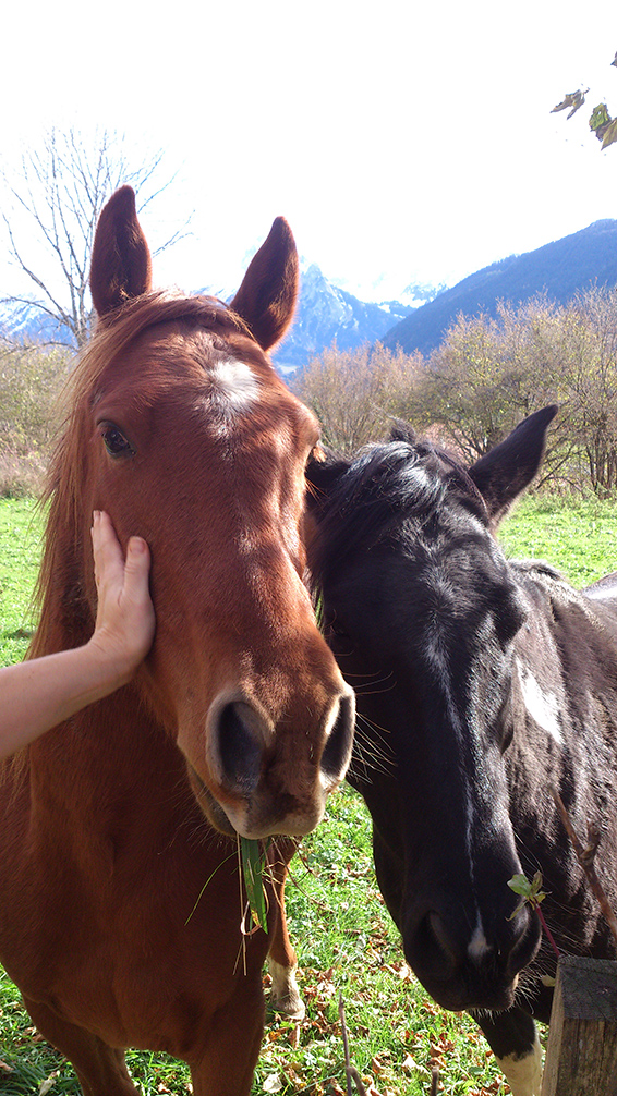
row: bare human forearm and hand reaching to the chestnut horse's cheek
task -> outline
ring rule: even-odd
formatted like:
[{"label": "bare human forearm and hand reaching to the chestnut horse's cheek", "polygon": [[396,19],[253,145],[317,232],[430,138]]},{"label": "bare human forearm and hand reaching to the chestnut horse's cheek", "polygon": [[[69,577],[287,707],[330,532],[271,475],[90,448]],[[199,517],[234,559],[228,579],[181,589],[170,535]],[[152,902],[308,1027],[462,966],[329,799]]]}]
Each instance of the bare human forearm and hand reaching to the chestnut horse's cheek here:
[{"label": "bare human forearm and hand reaching to the chestnut horse's cheek", "polygon": [[146,541],[132,537],[125,562],[110,517],[96,511],[92,547],[99,596],[94,632],[83,647],[0,670],[0,757],[125,685],[151,647],[155,609]]}]

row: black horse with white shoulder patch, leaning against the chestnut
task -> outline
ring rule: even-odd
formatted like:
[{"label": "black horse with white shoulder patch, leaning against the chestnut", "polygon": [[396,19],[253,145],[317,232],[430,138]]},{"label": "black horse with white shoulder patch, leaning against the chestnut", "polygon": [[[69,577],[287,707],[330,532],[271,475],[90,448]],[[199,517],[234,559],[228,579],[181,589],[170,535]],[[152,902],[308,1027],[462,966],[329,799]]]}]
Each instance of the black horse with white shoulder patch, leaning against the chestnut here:
[{"label": "black horse with white shoulder patch, leaning against the chestnut", "polygon": [[617,905],[617,601],[512,562],[499,521],[536,475],[556,408],[470,468],[408,429],[309,468],[310,564],[327,636],[357,694],[352,784],[373,817],[379,887],[405,958],[468,1009],[515,1096],[540,1092],[533,1017],[556,959],[507,882],[540,870],[569,954],[612,958],[551,796],[602,832]]}]

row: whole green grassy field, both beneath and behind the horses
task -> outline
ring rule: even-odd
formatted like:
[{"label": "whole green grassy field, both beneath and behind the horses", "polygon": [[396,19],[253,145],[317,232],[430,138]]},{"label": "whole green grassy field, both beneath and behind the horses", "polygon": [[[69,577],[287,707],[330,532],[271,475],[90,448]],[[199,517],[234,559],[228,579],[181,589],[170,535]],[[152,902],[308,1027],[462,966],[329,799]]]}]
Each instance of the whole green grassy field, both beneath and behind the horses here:
[{"label": "whole green grassy field, both beneath and behind the horses", "polygon": [[[505,524],[502,543],[511,556],[556,564],[580,587],[617,569],[616,534],[610,503],[528,498]],[[38,536],[31,502],[0,500],[0,663],[23,655],[33,626],[27,605]],[[366,811],[351,789],[332,797],[325,822],[302,842],[292,872],[289,925],[307,1019],[297,1025],[268,1016],[254,1096],[345,1092],[340,993],[352,1057],[370,1096],[427,1094],[433,1063],[443,1093],[504,1096],[509,1088],[476,1026],[434,1005],[409,975],[375,882]],[[78,1096],[71,1070],[37,1039],[1,970],[0,1026],[2,1096],[36,1096],[48,1086],[53,1096]],[[172,1059],[132,1052],[128,1061],[146,1096],[187,1089],[187,1072]]]}]

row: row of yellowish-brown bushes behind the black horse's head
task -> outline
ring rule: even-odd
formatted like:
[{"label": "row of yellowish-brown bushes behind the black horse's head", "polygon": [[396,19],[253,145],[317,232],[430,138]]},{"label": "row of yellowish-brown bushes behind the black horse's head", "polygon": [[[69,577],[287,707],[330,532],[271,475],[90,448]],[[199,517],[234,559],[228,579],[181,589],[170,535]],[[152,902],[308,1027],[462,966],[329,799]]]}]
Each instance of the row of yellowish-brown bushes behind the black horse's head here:
[{"label": "row of yellowish-brown bushes behind the black horse's head", "polygon": [[473,463],[526,415],[549,403],[540,483],[567,493],[617,490],[617,287],[593,287],[560,306],[546,296],[460,315],[424,358],[379,343],[310,362],[296,391],[324,442],[344,454],[377,441],[392,418]]}]

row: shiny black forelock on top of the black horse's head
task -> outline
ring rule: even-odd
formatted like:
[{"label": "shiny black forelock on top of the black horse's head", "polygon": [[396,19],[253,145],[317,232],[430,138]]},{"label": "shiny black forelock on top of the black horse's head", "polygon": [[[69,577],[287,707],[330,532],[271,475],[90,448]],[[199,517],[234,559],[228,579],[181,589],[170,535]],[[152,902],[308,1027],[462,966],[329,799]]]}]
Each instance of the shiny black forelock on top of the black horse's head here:
[{"label": "shiny black forelock on top of the black horse's head", "polygon": [[465,468],[411,427],[398,424],[391,439],[367,445],[351,461],[327,453],[325,466],[341,472],[328,494],[316,495],[318,532],[311,573],[318,583],[359,547],[369,551],[395,537],[403,520],[423,523],[456,495],[483,522],[484,502]]}]

